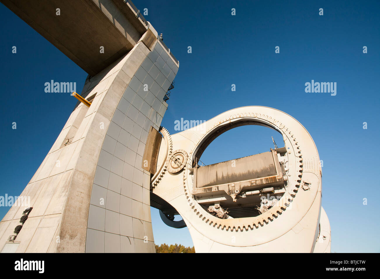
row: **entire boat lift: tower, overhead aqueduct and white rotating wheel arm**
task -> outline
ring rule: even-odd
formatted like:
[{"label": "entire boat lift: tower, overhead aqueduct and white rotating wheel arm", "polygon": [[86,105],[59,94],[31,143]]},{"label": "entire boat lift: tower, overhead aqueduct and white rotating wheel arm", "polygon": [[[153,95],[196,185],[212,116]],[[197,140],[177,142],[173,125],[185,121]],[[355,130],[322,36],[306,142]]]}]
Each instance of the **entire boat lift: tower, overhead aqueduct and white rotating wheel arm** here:
[{"label": "entire boat lift: tower, overhead aqueduct and white rotating wheel arm", "polygon": [[[17,205],[0,222],[0,251],[154,252],[149,205],[187,226],[196,252],[330,251],[318,151],[298,121],[250,106],[170,135],[160,124],[179,62],[130,0],[0,1],[89,74],[21,194],[31,197],[27,221]],[[242,125],[275,129],[285,147],[199,166],[212,140]]]}]

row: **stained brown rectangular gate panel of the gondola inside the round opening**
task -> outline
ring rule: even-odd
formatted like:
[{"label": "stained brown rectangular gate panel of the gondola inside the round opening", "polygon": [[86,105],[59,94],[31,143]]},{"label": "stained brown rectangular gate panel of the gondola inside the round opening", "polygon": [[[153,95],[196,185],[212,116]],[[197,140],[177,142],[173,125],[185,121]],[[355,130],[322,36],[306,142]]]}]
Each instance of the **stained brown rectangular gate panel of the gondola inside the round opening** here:
[{"label": "stained brown rectangular gate panel of the gondola inside the round opening", "polygon": [[276,174],[272,152],[268,151],[199,167],[196,173],[196,188],[275,176]]}]

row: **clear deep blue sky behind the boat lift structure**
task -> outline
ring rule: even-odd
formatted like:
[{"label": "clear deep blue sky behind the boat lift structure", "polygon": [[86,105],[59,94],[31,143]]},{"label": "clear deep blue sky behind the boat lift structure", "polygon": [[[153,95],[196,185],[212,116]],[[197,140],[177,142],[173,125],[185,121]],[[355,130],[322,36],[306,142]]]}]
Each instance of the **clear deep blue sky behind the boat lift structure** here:
[{"label": "clear deep blue sky behind the boat lift structure", "polygon": [[[323,160],[322,205],[331,224],[331,251],[380,252],[379,2],[133,2],[148,9],[146,19],[180,62],[161,125],[174,134],[174,121],[181,117],[208,120],[241,106],[287,112],[309,131]],[[45,93],[44,83],[76,82],[81,91],[87,74],[2,4],[0,15],[0,195],[19,195],[76,104],[70,95]],[[336,96],[306,93],[311,80],[336,82]],[[230,130],[201,160],[212,164],[267,151],[271,136],[280,145],[281,137],[270,129]],[[0,207],[0,218],[8,209]],[[157,210],[152,224],[156,244],[192,246],[187,228],[167,227]]]}]

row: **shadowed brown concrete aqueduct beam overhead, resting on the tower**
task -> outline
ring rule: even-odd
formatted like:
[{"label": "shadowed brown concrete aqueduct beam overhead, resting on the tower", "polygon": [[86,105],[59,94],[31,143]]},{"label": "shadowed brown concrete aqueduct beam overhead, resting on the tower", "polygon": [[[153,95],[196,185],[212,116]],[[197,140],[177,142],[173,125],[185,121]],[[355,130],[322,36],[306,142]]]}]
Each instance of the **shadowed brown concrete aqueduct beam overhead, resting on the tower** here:
[{"label": "shadowed brown concrete aqueduct beam overhead, resting on the tower", "polygon": [[1,2],[90,76],[127,54],[148,28],[123,0]]}]

